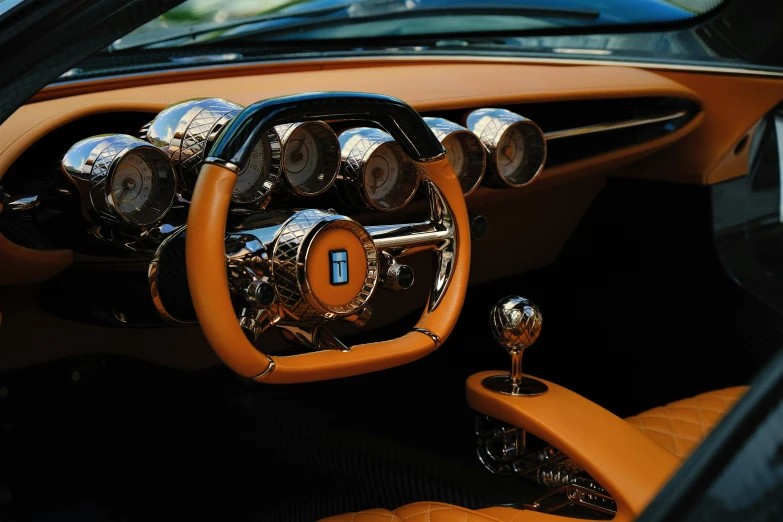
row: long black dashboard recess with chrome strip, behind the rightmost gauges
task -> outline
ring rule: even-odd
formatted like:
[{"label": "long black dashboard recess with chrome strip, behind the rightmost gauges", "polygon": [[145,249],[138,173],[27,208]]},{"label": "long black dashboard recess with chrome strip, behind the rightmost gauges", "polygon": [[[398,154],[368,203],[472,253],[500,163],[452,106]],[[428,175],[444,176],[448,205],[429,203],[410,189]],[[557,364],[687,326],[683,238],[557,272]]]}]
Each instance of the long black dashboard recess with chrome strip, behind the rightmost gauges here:
[{"label": "long black dashboard recess with chrome strip, behind the rightmost gauges", "polygon": [[[541,127],[547,138],[546,163],[550,167],[663,137],[684,127],[701,111],[691,100],[671,97],[578,100],[500,105],[499,108],[530,118]],[[468,112],[441,111],[437,116],[462,122]]]}]

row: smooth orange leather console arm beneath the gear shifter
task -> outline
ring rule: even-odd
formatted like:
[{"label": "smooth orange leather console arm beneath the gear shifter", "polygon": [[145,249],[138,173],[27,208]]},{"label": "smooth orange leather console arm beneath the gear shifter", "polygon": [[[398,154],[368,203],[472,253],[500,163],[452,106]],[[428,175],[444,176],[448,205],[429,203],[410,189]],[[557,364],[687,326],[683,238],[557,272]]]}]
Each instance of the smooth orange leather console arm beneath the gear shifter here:
[{"label": "smooth orange leather console arm beneath the gear shifter", "polygon": [[[539,397],[511,397],[487,390],[481,372],[467,380],[470,407],[520,426],[571,457],[617,502],[615,520],[633,520],[652,500],[680,459],[634,426],[557,384]],[[543,380],[543,379],[539,379]]]}]

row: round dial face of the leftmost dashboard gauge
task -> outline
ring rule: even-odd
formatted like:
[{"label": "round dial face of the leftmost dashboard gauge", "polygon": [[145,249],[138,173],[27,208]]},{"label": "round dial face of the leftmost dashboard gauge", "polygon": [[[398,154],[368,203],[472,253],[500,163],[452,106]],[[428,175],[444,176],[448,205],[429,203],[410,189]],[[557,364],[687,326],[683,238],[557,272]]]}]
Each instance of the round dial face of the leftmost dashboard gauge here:
[{"label": "round dial face of the leftmost dashboard gauge", "polygon": [[115,208],[126,218],[147,208],[156,192],[149,161],[137,152],[126,154],[114,171],[111,191]]}]

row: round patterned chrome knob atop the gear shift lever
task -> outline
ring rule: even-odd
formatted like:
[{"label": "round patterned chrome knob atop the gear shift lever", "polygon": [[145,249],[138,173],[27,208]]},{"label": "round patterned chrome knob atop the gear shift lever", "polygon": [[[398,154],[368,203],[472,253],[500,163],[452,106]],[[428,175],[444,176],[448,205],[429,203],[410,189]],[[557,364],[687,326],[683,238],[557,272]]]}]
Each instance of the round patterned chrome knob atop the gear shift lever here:
[{"label": "round patterned chrome knob atop the gear shift lever", "polygon": [[538,339],[542,316],[530,300],[510,295],[498,301],[489,316],[495,341],[509,354],[523,351]]}]

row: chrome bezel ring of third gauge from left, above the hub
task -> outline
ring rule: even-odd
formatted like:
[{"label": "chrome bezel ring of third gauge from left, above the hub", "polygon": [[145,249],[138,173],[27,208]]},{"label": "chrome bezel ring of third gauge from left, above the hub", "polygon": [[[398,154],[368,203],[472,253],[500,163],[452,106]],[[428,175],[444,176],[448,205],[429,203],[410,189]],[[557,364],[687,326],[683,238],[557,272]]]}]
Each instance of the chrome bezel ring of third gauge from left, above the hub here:
[{"label": "chrome bezel ring of third gauge from left, above the hub", "polygon": [[[318,172],[315,174],[317,183],[315,181],[294,183],[286,167],[287,147],[293,143],[291,140],[293,135],[300,130],[307,130],[313,134],[321,147],[322,154],[318,160]],[[280,138],[280,171],[282,172],[280,177],[284,180],[285,187],[297,196],[318,196],[329,190],[340,172],[340,142],[332,128],[322,121],[308,121],[278,125],[275,127],[275,132]]]}]

